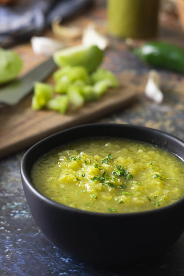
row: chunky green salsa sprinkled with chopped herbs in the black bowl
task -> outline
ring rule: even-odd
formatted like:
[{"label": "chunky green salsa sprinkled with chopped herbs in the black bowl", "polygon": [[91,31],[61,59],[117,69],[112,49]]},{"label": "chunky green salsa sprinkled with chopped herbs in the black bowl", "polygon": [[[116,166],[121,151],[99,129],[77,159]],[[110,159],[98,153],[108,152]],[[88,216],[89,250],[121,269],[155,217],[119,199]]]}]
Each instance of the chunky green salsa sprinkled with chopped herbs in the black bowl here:
[{"label": "chunky green salsa sprinkled with chopped herbs in the black bowl", "polygon": [[130,213],[172,204],[184,195],[184,163],[155,145],[91,138],[64,145],[33,165],[33,185],[77,209]]}]

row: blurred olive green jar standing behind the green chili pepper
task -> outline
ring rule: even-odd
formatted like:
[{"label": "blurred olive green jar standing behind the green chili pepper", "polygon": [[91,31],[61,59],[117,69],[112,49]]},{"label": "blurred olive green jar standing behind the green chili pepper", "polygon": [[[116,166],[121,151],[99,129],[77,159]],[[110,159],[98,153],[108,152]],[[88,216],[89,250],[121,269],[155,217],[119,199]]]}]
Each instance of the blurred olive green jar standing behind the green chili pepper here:
[{"label": "blurred olive green jar standing behind the green chili pepper", "polygon": [[117,37],[156,36],[159,0],[108,0],[109,33]]}]

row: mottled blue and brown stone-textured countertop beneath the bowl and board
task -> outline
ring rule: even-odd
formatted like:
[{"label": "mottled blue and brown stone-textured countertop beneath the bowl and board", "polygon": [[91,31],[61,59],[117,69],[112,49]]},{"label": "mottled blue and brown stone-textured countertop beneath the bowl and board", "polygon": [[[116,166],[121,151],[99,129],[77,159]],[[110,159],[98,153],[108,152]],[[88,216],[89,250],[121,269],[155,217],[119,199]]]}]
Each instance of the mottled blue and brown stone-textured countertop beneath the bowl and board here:
[{"label": "mottled blue and brown stone-textured countertop beneath the bowl and board", "polygon": [[[103,5],[85,16],[95,21],[104,20]],[[162,39],[184,44],[175,18],[168,20],[161,15],[160,22]],[[122,78],[129,78],[135,83],[139,97],[131,106],[98,122],[144,125],[184,139],[183,76],[159,70],[164,101],[161,105],[152,103],[144,96],[149,67],[126,49],[124,41],[111,38],[111,43],[112,47],[105,54],[104,66],[116,73],[121,72]],[[19,172],[23,154],[18,152],[0,161],[0,275],[184,275],[184,234],[159,259],[129,266],[82,263],[56,248],[40,231],[29,211]]]}]

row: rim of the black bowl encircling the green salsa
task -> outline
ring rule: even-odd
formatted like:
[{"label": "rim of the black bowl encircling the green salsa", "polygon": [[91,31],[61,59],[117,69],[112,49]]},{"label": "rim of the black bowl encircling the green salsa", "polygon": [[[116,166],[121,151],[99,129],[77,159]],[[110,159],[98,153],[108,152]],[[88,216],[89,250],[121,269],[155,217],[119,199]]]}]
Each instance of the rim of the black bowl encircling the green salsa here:
[{"label": "rim of the black bowl encircling the green salsa", "polygon": [[[63,209],[65,211],[68,212],[74,212],[77,214],[83,214],[83,215],[88,215],[88,216],[97,216],[97,217],[139,217],[139,216],[148,216],[148,215],[156,215],[160,212],[165,212],[165,211],[169,211],[171,209],[173,209],[174,207],[178,207],[179,205],[184,203],[184,197],[182,197],[181,199],[179,199],[178,201],[171,203],[167,206],[164,207],[159,207],[158,209],[152,209],[152,210],[146,210],[146,211],[140,211],[140,212],[131,212],[131,213],[101,213],[101,212],[94,212],[94,211],[87,211],[87,210],[82,210],[82,209],[77,209],[74,207],[70,207],[67,205],[64,205],[62,203],[56,202],[52,199],[50,199],[49,197],[46,197],[44,194],[42,194],[39,190],[36,189],[35,186],[33,186],[33,184],[31,183],[31,181],[29,180],[30,175],[28,175],[26,173],[26,163],[29,160],[29,155],[32,152],[32,150],[38,146],[40,146],[44,141],[52,139],[54,136],[58,136],[61,135],[62,133],[68,132],[69,130],[77,130],[78,128],[85,128],[85,127],[95,127],[95,126],[103,126],[103,127],[107,127],[110,125],[117,125],[117,127],[129,127],[129,128],[136,128],[136,129],[142,129],[142,130],[148,130],[152,133],[157,133],[157,134],[161,134],[163,136],[168,136],[170,138],[173,138],[174,140],[176,140],[179,144],[181,144],[181,146],[184,147],[184,141],[182,141],[181,139],[179,139],[178,137],[169,134],[167,132],[155,129],[155,128],[148,128],[148,127],[144,127],[144,126],[139,126],[139,125],[131,125],[131,124],[116,124],[116,123],[92,123],[92,124],[84,124],[84,125],[78,125],[75,127],[71,127],[71,128],[67,128],[65,130],[56,132],[42,140],[40,140],[39,142],[37,142],[36,144],[34,144],[31,148],[29,148],[25,154],[22,157],[21,160],[21,166],[20,166],[20,171],[21,171],[21,178],[22,178],[22,182],[24,181],[25,185],[28,186],[28,188],[35,194],[36,197],[38,197],[40,200],[43,200],[44,202],[46,202],[47,204],[59,208],[59,209]],[[99,136],[100,137],[100,136]],[[109,136],[110,137],[110,136]],[[79,140],[79,139],[76,139]],[[136,140],[136,139],[135,139]],[[147,142],[147,141],[144,141]],[[149,142],[147,142],[149,143]],[[62,143],[61,143],[62,146]],[[58,147],[57,147],[58,148]],[[54,150],[54,149],[53,149]],[[167,149],[165,149],[167,150]],[[177,154],[175,154],[174,152],[170,151],[172,154],[178,156]],[[38,156],[39,158],[40,156]],[[179,157],[179,156],[178,156]],[[30,174],[30,171],[29,171]]]}]

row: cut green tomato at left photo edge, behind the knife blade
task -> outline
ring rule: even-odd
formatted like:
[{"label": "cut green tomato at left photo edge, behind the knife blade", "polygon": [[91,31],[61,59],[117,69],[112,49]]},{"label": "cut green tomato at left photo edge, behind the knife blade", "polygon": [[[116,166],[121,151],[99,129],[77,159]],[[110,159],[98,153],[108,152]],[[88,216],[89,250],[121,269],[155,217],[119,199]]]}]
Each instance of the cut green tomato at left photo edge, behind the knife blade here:
[{"label": "cut green tomato at left photo edge, behind the knife blade", "polygon": [[0,48],[0,84],[15,79],[22,66],[22,59],[16,52]]}]

